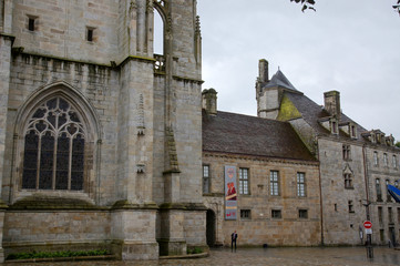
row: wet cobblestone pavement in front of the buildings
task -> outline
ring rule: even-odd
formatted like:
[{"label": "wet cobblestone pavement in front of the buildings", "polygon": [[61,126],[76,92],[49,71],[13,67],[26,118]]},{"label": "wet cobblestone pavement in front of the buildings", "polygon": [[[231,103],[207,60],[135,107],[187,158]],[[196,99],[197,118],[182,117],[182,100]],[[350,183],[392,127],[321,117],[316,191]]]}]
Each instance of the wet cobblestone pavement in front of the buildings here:
[{"label": "wet cobblestone pavement in front of the buildings", "polygon": [[[212,249],[211,256],[198,259],[162,259],[147,262],[79,262],[79,263],[45,263],[23,264],[23,266],[156,266],[156,265],[274,265],[274,266],[380,266],[400,265],[400,250],[390,248],[373,248],[373,260],[367,259],[363,247],[337,248],[238,248]],[[16,264],[6,263],[7,266]]]}]

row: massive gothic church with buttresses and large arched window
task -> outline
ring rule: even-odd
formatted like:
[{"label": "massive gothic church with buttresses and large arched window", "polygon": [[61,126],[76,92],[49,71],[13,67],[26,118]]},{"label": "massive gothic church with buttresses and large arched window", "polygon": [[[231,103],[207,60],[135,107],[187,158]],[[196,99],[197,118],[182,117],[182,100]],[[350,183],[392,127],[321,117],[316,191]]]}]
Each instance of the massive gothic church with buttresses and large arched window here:
[{"label": "massive gothic church with buttresses and large arched window", "polygon": [[201,60],[196,0],[0,0],[1,255],[205,248]]}]

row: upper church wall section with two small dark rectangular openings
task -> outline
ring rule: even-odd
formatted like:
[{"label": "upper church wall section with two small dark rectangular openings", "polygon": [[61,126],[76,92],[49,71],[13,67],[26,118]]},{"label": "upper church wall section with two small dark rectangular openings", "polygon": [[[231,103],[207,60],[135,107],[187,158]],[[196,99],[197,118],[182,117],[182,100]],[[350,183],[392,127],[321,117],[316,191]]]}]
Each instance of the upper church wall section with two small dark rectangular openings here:
[{"label": "upper church wall section with two small dark rectangular openings", "polygon": [[[14,47],[25,52],[110,64],[119,54],[119,1],[14,0]],[[28,20],[35,20],[35,30]],[[88,28],[93,41],[86,40]]]}]

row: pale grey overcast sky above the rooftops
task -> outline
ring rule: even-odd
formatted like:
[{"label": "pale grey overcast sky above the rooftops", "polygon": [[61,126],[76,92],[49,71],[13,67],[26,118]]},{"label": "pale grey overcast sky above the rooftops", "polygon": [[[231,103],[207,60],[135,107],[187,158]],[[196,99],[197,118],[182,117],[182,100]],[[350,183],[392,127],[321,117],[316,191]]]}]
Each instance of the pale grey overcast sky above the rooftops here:
[{"label": "pale grey overcast sky above the rooftops", "polygon": [[218,110],[256,115],[258,60],[280,66],[318,104],[337,90],[342,112],[400,141],[400,17],[396,0],[317,0],[301,12],[289,0],[198,0],[203,89]]}]

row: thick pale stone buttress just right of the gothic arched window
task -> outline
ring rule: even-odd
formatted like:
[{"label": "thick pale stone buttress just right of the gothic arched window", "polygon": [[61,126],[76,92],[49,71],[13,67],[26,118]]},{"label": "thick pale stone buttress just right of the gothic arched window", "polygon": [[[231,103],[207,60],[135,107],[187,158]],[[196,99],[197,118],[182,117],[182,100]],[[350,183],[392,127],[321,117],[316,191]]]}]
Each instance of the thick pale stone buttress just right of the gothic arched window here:
[{"label": "thick pale stone buttress just right of the gothic arched window", "polygon": [[121,69],[119,104],[120,201],[113,206],[112,237],[121,259],[156,259],[157,205],[153,181],[153,61],[132,57]]}]

